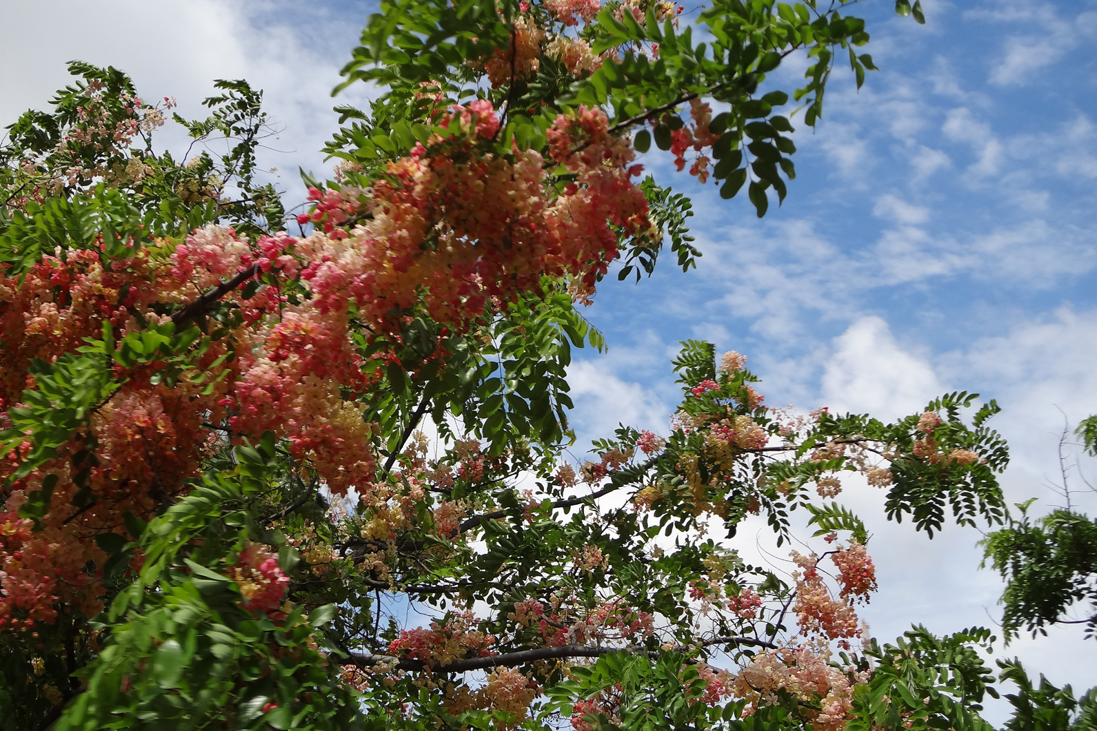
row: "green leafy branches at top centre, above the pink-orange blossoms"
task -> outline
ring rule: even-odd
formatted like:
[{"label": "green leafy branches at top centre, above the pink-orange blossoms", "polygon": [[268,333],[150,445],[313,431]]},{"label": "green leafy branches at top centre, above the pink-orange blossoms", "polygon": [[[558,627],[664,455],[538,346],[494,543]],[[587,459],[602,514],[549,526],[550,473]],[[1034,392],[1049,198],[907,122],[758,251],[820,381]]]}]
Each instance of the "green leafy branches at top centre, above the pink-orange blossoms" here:
[{"label": "green leafy branches at top centre, above the pink-orange blossoms", "polygon": [[[544,151],[545,130],[556,111],[580,104],[608,110],[614,133],[649,123],[653,132],[641,128],[636,134],[637,149],[648,149],[654,135],[656,146],[666,150],[670,132],[682,125],[679,107],[693,99],[712,99],[731,106],[712,121],[712,130],[723,133],[712,152],[716,160],[713,176],[717,184],[723,181],[725,198],[735,196],[749,181],[749,197],[760,217],[769,206],[768,191],[772,189],[778,202],[783,202],[785,181],[795,178],[790,157],[795,145],[785,136],[793,127],[788,115],[777,113],[778,107],[790,99],[800,102],[804,123],[814,126],[823,113],[826,82],[839,49],[848,52],[858,87],[866,69],[875,69],[871,56],[855,52],[868,43],[869,35],[862,20],[840,14],[846,4],[841,0],[819,12],[815,3],[719,0],[698,18],[699,35],[703,31],[705,36],[699,43],[692,38],[692,26],[676,30],[669,18],[660,23],[654,3],[647,3],[643,25],[629,13],[618,20],[615,5],[606,5],[581,37],[596,54],[620,50],[617,58],[604,58],[600,68],[574,81],[545,59],[531,78],[514,78],[487,92],[497,108],[506,107],[506,125],[496,140],[499,151],[506,153],[512,141],[521,149]],[[920,13],[917,7],[915,18],[920,19]],[[358,121],[337,135],[326,151],[380,171],[380,161],[405,155],[417,139],[426,142],[434,130],[426,116],[430,103],[416,96],[419,84],[437,83],[456,102],[478,95],[473,85],[477,72],[467,61],[490,57],[496,49],[507,53],[518,15],[518,3],[512,0],[383,2],[362,32],[353,60],[342,70],[346,81],[336,92],[359,81],[387,90],[369,114],[338,107],[343,119]],[[658,44],[657,60],[637,52],[645,44]],[[810,59],[807,82],[791,93],[765,90],[767,75],[796,52]],[[649,186],[645,192],[658,207],[663,189]],[[671,238],[679,265],[686,266],[695,252],[681,245],[672,229]],[[647,249],[633,252],[641,267],[644,261],[654,260],[652,247]]]}]

